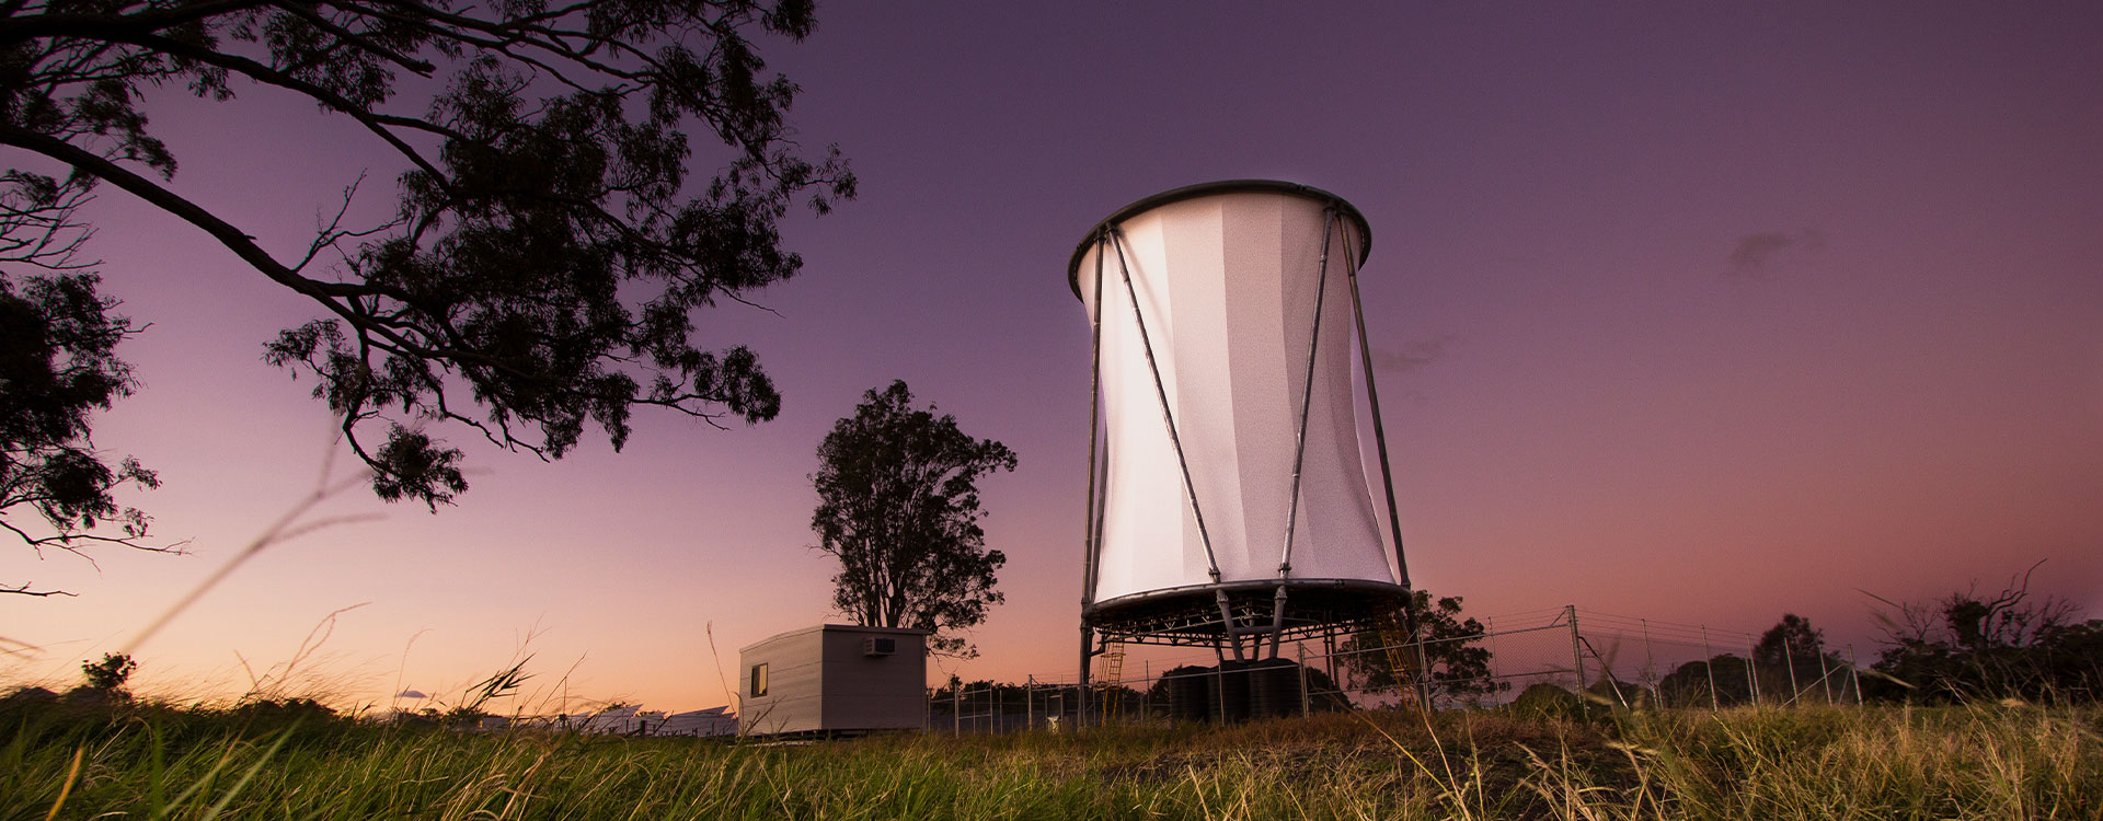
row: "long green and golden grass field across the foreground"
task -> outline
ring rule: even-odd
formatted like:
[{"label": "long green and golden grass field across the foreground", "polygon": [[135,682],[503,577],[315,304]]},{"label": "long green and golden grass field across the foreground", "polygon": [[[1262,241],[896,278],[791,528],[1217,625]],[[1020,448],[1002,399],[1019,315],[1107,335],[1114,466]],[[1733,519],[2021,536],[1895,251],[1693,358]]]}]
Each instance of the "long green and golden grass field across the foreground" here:
[{"label": "long green and golden grass field across the foreground", "polygon": [[0,708],[4,819],[2103,819],[2099,708],[1327,714],[805,745]]}]

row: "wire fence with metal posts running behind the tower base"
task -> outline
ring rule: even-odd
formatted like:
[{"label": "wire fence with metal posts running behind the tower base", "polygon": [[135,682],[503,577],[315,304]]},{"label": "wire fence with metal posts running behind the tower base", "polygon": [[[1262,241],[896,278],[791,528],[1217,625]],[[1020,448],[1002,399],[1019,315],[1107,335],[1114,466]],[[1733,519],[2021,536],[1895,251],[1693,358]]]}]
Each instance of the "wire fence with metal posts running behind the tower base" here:
[{"label": "wire fence with metal posts running behind the tower base", "polygon": [[[1209,651],[1100,655],[1091,682],[1028,676],[930,691],[927,729],[1012,733],[1220,722],[1340,710],[1495,708],[1586,693],[1621,708],[1861,703],[1853,647],[1758,647],[1758,636],[1563,607],[1499,615],[1478,636],[1384,643],[1377,632],[1285,645],[1277,659]],[[1121,653],[1112,647],[1110,653]],[[1396,674],[1401,672],[1401,674]]]}]

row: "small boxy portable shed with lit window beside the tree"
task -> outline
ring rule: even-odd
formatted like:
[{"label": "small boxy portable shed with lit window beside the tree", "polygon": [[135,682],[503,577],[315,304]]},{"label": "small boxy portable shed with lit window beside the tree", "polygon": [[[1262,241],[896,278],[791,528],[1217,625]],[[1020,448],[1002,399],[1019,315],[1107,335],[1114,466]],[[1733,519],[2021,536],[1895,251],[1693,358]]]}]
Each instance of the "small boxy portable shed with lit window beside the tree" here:
[{"label": "small boxy portable shed with lit window beside the tree", "polygon": [[820,624],[747,645],[738,733],[866,733],[927,722],[927,632]]}]

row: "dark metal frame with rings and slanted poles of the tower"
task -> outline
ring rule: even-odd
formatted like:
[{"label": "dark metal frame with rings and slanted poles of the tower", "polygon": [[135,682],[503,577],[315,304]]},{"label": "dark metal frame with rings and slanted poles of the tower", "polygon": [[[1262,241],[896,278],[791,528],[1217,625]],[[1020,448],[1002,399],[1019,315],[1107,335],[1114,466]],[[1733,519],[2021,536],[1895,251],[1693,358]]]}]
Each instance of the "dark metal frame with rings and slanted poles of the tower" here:
[{"label": "dark metal frame with rings and slanted poles of the tower", "polygon": [[[1277,577],[1247,577],[1247,580],[1222,580],[1220,556],[1213,552],[1213,535],[1205,525],[1205,508],[1199,498],[1197,481],[1192,479],[1192,466],[1184,451],[1182,433],[1178,430],[1176,405],[1169,399],[1169,388],[1163,384],[1161,363],[1155,359],[1155,340],[1146,328],[1146,315],[1140,309],[1140,294],[1134,286],[1134,260],[1131,248],[1127,248],[1125,223],[1142,214],[1155,212],[1165,206],[1176,206],[1186,199],[1216,197],[1216,195],[1239,195],[1239,193],[1264,193],[1264,195],[1289,195],[1300,199],[1310,199],[1321,206],[1321,260],[1314,273],[1314,319],[1308,330],[1308,351],[1304,353],[1304,384],[1300,395],[1293,397],[1293,412],[1298,414],[1298,430],[1293,430],[1293,472],[1289,491],[1289,512],[1285,517],[1285,538],[1281,550],[1281,563],[1277,567]],[[1342,265],[1344,281],[1348,283],[1350,298],[1350,319],[1354,323],[1354,336],[1359,338],[1359,374],[1365,380],[1365,399],[1373,416],[1373,445],[1380,458],[1380,479],[1382,491],[1386,493],[1388,527],[1386,533],[1394,546],[1392,571],[1394,584],[1384,580],[1365,577],[1295,577],[1291,575],[1293,563],[1293,542],[1295,529],[1302,525],[1302,466],[1308,451],[1308,424],[1314,405],[1314,384],[1316,384],[1316,349],[1321,346],[1321,321],[1323,304],[1329,298],[1329,265],[1331,265],[1331,237],[1340,235],[1344,241]],[[1352,241],[1356,239],[1356,241]],[[1356,248],[1348,248],[1356,246]],[[1083,265],[1094,252],[1094,298],[1081,292]],[[1403,554],[1403,533],[1396,519],[1394,506],[1394,479],[1388,462],[1386,430],[1380,418],[1380,395],[1373,386],[1373,359],[1371,344],[1365,336],[1365,311],[1359,300],[1359,265],[1371,252],[1371,229],[1365,216],[1352,208],[1342,197],[1306,185],[1281,183],[1281,181],[1220,181],[1203,183],[1192,187],[1182,187],[1152,197],[1144,197],[1125,206],[1104,218],[1087,233],[1087,237],[1075,248],[1073,258],[1066,265],[1066,277],[1073,286],[1075,298],[1083,302],[1089,311],[1089,334],[1091,334],[1091,370],[1089,370],[1089,449],[1087,449],[1087,517],[1085,517],[1085,554],[1083,554],[1083,577],[1081,577],[1081,685],[1089,680],[1089,661],[1108,649],[1110,643],[1136,643],[1136,645],[1173,645],[1173,647],[1213,647],[1220,661],[1247,661],[1253,657],[1277,657],[1279,645],[1283,640],[1304,640],[1321,636],[1340,636],[1352,630],[1373,628],[1390,624],[1390,619],[1401,622],[1403,630],[1415,634],[1415,613],[1411,611],[1409,596],[1409,565]],[[1112,262],[1115,260],[1115,262]],[[1104,548],[1104,519],[1108,506],[1108,485],[1110,485],[1110,433],[1102,428],[1104,422],[1104,288],[1121,288],[1121,294],[1110,294],[1112,298],[1129,298],[1131,315],[1119,315],[1119,321],[1129,321],[1138,336],[1138,349],[1144,353],[1146,372],[1152,378],[1152,399],[1159,401],[1159,414],[1167,426],[1167,443],[1173,449],[1176,468],[1182,479],[1182,500],[1188,504],[1188,514],[1195,519],[1197,540],[1203,542],[1203,559],[1209,565],[1205,584],[1169,586],[1138,592],[1119,592],[1104,601],[1098,601],[1098,586],[1102,582],[1102,548]],[[1119,309],[1121,311],[1121,309]],[[1338,317],[1342,319],[1342,317]],[[1350,332],[1342,332],[1352,336]],[[1300,367],[1298,361],[1289,361],[1291,367]],[[1348,370],[1348,365],[1344,365]],[[1348,378],[1346,378],[1348,382]],[[1129,391],[1129,386],[1127,386]],[[1127,399],[1129,401],[1129,399]],[[1333,399],[1325,399],[1333,401]],[[1346,395],[1344,401],[1350,403],[1354,397]],[[1352,430],[1352,441],[1356,433]],[[1363,447],[1363,445],[1359,445]],[[1356,460],[1356,458],[1354,458]],[[1363,462],[1352,462],[1363,464]],[[1363,475],[1361,475],[1361,496],[1363,496]],[[1365,500],[1371,504],[1371,500]],[[1369,510],[1369,508],[1367,508]],[[1247,540],[1247,538],[1243,538]],[[1268,544],[1268,542],[1266,542]],[[1384,559],[1382,559],[1384,563]],[[1243,569],[1247,575],[1247,569]],[[1268,645],[1268,647],[1266,647]]]}]

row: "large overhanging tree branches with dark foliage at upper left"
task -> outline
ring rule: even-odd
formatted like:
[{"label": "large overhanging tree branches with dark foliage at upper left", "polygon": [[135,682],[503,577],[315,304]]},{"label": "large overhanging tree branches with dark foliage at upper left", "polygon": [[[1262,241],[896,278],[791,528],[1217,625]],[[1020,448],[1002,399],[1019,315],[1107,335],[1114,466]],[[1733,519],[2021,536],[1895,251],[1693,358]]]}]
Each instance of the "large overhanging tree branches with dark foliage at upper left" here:
[{"label": "large overhanging tree branches with dark foliage at upper left", "polygon": [[[34,208],[0,218],[0,250],[53,262],[84,231],[67,206],[111,185],[307,296],[322,319],[267,359],[318,380],[381,498],[435,510],[467,489],[429,422],[553,460],[587,424],[618,449],[637,405],[717,426],[780,409],[751,351],[694,344],[694,313],[793,277],[778,218],[854,195],[837,151],[799,153],[797,88],[747,40],[801,40],[810,0],[11,0],[0,15],[0,145],[65,168],[6,172],[0,191]],[[393,216],[347,225],[347,172],[303,254],[263,250],[170,187],[177,157],[141,101],[175,88],[198,107],[261,88],[339,115],[400,157]],[[711,143],[719,168],[690,181]]]}]

